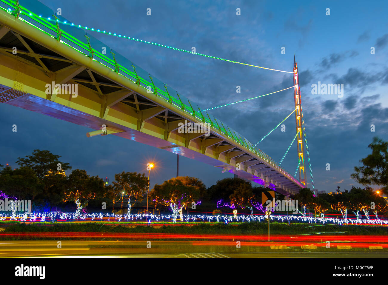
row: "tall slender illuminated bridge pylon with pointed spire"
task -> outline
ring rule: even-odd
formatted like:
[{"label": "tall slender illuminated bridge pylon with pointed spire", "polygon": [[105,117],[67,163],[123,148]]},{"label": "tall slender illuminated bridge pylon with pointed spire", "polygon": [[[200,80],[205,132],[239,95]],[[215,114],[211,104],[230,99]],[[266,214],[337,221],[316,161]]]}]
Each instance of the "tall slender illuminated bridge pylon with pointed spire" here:
[{"label": "tall slender illuminated bridge pylon with pointed spire", "polygon": [[303,147],[303,128],[302,128],[302,115],[301,115],[301,96],[300,96],[300,84],[299,84],[299,71],[298,65],[295,62],[295,54],[294,54],[294,101],[295,101],[295,123],[296,123],[296,132],[298,133],[298,172],[299,172],[299,181],[306,185],[306,176],[305,176],[305,150]]}]

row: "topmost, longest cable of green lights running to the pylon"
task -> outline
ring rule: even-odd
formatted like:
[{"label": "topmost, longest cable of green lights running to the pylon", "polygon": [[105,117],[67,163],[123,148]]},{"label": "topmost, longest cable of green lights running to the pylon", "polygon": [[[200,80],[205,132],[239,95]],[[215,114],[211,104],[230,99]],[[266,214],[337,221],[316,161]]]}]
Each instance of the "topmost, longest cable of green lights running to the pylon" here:
[{"label": "topmost, longest cable of green lights running to the pylon", "polygon": [[[51,19],[50,17],[47,17],[48,21],[53,21],[55,22],[55,20]],[[110,36],[116,36],[118,38],[127,38],[129,40],[132,40],[132,41],[139,41],[141,43],[147,43],[147,44],[150,44],[150,45],[155,45],[155,46],[158,46],[158,47],[164,47],[164,48],[169,48],[169,49],[172,49],[172,50],[177,50],[177,51],[180,51],[180,52],[186,52],[186,53],[190,53],[192,55],[201,55],[203,57],[209,57],[209,58],[212,58],[212,59],[218,59],[218,60],[223,60],[223,61],[227,61],[227,62],[233,62],[233,63],[237,63],[237,64],[243,64],[243,65],[246,65],[246,66],[252,66],[252,67],[257,67],[257,68],[262,68],[262,69],[268,69],[268,70],[272,70],[272,71],[279,71],[279,72],[284,72],[284,73],[294,73],[292,71],[284,71],[284,70],[279,70],[279,69],[272,69],[272,68],[267,68],[267,67],[262,67],[262,66],[256,66],[256,65],[252,65],[252,64],[247,64],[247,63],[243,63],[243,62],[238,62],[238,61],[235,61],[235,60],[229,60],[229,59],[223,59],[221,57],[215,57],[215,56],[211,56],[211,55],[206,55],[206,54],[198,54],[196,52],[191,52],[189,50],[185,50],[185,49],[182,49],[182,48],[175,48],[175,47],[171,47],[169,45],[163,45],[163,44],[160,44],[160,43],[154,43],[154,42],[150,42],[150,41],[146,41],[146,40],[139,40],[138,38],[131,38],[130,36],[121,36],[121,34],[117,34],[117,33],[111,33],[111,32],[106,32],[106,31],[101,31],[100,29],[94,29],[94,28],[88,28],[87,26],[81,26],[81,25],[75,25],[74,23],[68,23],[66,21],[64,22],[61,22],[61,21],[57,21],[59,24],[64,24],[64,25],[68,25],[68,26],[71,26],[71,27],[76,27],[76,28],[80,28],[80,29],[85,29],[85,30],[88,30],[88,31],[94,31],[96,33],[102,33],[102,34],[105,34],[105,35],[110,35]]]}]

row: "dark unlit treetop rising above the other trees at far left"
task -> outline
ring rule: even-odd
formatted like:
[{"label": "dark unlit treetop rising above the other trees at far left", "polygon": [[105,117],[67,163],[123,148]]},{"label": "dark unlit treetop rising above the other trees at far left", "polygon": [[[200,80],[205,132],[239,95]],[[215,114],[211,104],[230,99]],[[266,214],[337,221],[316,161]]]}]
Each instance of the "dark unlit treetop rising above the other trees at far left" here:
[{"label": "dark unlit treetop rising above the other trees at far left", "polygon": [[59,157],[61,155],[52,154],[49,150],[35,149],[32,155],[27,155],[24,158],[18,157],[16,163],[33,169],[38,178],[43,178],[49,171],[56,172],[71,169],[69,163],[59,161]]}]

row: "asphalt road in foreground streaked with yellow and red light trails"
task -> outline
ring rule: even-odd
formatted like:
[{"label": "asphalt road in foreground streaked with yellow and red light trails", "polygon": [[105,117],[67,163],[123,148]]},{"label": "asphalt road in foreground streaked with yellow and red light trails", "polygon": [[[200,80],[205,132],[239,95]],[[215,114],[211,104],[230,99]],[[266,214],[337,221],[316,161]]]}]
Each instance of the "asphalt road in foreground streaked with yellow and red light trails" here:
[{"label": "asphalt road in foreground streaked with yellow and red light trails", "polygon": [[[147,247],[148,246],[148,247]],[[388,251],[353,248],[351,250],[318,249],[302,250],[289,246],[286,250],[271,250],[241,244],[217,244],[174,240],[40,240],[0,241],[0,257],[126,257],[126,258],[388,258]]]}]

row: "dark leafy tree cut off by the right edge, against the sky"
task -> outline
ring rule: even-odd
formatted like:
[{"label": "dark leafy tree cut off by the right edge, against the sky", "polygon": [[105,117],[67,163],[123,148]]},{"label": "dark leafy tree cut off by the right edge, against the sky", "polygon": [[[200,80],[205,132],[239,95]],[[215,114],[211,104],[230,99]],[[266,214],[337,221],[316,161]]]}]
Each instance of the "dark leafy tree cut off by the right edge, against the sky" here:
[{"label": "dark leafy tree cut off by the right edge, against the sky", "polygon": [[362,185],[381,185],[381,191],[388,195],[388,142],[377,136],[368,148],[372,153],[360,160],[363,166],[355,166],[352,178]]}]

